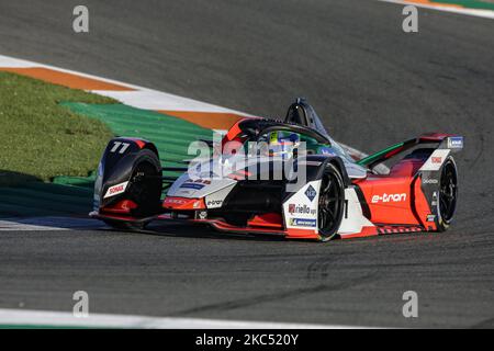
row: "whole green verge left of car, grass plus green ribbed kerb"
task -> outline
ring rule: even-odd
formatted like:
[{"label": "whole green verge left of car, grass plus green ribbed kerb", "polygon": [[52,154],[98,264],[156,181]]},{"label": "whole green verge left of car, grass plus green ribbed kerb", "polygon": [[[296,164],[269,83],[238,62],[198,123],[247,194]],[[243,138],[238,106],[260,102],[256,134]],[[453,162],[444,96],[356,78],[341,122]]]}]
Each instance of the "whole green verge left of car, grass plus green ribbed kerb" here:
[{"label": "whole green verge left of car, grass plus green ribbed kerb", "polygon": [[173,116],[0,72],[0,217],[86,215],[94,169],[114,136],[148,139],[164,167],[184,167],[181,161],[193,158],[190,143],[211,139],[212,133]]}]

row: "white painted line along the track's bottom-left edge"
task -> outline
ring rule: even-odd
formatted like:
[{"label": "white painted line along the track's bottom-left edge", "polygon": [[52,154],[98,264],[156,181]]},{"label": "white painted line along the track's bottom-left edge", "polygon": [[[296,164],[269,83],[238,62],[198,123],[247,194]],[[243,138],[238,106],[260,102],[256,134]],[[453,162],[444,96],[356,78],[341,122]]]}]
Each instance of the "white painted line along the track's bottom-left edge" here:
[{"label": "white painted line along the track's bottom-left edge", "polygon": [[206,318],[147,317],[132,315],[89,314],[50,310],[0,309],[0,326],[89,327],[139,329],[356,329],[366,327],[270,321],[242,321]]}]

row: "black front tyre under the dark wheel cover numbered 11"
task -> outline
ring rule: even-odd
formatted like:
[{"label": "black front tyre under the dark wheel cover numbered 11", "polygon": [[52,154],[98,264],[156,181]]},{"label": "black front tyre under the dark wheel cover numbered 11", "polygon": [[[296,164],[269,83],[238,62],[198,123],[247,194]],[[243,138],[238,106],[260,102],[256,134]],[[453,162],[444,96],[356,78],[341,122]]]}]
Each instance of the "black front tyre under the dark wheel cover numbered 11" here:
[{"label": "black front tyre under the dark wheel cover numbered 11", "polygon": [[[149,149],[138,152],[130,179],[126,199],[137,206],[131,211],[135,218],[151,217],[160,211],[162,191],[161,165],[158,156]],[[150,220],[126,222],[104,219],[104,223],[119,230],[142,230]]]}]

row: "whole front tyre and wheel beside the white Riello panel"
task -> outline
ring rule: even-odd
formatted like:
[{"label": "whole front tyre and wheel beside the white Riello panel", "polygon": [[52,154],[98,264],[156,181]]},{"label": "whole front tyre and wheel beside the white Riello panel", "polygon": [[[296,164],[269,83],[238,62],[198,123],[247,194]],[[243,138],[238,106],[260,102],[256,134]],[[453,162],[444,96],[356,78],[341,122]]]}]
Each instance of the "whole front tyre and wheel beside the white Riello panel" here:
[{"label": "whole front tyre and wheel beside the white Riello panel", "polygon": [[317,208],[321,241],[329,241],[336,236],[344,213],[345,183],[340,171],[333,163],[327,163],[321,182]]}]

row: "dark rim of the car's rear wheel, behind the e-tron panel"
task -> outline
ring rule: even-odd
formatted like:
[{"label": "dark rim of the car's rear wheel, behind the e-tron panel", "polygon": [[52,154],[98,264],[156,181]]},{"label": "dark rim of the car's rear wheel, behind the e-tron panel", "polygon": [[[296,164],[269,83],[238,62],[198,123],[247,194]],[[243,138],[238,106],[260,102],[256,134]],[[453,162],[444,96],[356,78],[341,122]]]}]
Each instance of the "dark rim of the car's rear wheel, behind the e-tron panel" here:
[{"label": "dark rim of the car's rear wheel, behind the e-tron panel", "polygon": [[457,171],[452,162],[442,168],[439,189],[439,212],[445,222],[451,220],[457,207],[458,180]]}]

